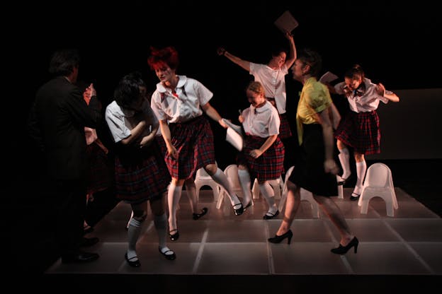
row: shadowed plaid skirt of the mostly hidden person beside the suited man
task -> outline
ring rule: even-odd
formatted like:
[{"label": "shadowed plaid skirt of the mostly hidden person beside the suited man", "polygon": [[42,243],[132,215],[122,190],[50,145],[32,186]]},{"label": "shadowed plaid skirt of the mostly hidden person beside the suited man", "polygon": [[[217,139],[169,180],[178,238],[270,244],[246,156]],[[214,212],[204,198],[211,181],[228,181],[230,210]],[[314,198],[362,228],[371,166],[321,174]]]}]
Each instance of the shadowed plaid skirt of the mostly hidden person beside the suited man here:
[{"label": "shadowed plaid skirt of the mostly hidden person beside the suited man", "polygon": [[86,174],[87,193],[92,194],[111,187],[113,168],[104,153],[96,143],[86,146],[86,158],[89,168]]}]

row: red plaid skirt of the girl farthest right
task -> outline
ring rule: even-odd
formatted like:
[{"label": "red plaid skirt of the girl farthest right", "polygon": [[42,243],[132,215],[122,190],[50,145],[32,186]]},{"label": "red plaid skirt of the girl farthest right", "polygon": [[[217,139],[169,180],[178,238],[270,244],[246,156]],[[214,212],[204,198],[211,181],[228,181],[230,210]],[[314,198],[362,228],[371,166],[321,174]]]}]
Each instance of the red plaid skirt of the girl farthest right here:
[{"label": "red plaid skirt of the girl farthest right", "polygon": [[336,129],[334,137],[353,147],[358,153],[365,155],[380,153],[378,113],[375,110],[348,112]]}]

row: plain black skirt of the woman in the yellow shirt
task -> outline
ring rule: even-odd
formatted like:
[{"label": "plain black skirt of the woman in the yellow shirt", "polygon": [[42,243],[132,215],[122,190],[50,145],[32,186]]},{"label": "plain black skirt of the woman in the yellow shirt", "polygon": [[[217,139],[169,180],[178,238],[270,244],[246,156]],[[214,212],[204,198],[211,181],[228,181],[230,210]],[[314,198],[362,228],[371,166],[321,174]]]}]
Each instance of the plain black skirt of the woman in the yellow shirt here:
[{"label": "plain black skirt of the woman in the yellow shirt", "polygon": [[289,177],[297,187],[315,195],[337,196],[336,176],[324,171],[324,137],[320,124],[303,124],[300,153]]}]

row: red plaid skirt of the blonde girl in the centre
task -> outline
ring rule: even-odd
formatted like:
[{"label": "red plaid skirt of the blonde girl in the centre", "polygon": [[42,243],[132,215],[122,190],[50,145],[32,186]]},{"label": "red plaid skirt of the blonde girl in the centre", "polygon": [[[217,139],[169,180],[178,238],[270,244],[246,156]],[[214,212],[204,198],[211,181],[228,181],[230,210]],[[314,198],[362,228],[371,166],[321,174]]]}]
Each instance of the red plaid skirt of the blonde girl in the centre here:
[{"label": "red plaid skirt of the blonde girl in the centre", "polygon": [[251,179],[256,177],[259,182],[278,179],[284,170],[285,150],[279,137],[276,137],[276,141],[259,158],[249,155],[250,151],[259,149],[266,140],[267,138],[259,136],[246,136],[244,148],[237,156],[237,163],[246,165]]}]

